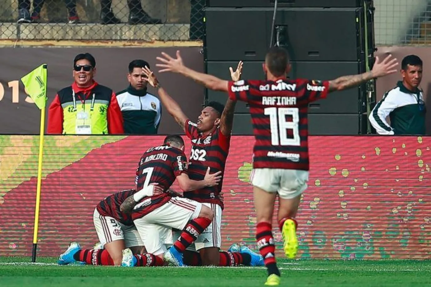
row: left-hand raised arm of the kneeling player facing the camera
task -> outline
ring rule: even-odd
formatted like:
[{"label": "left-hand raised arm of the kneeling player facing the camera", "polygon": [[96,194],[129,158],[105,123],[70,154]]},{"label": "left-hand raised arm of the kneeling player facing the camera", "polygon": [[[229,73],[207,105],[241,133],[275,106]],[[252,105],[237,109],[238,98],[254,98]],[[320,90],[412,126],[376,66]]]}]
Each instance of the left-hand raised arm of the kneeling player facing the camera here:
[{"label": "left-hand raised arm of the kneeling player facing the camera", "polygon": [[144,74],[147,76],[147,81],[154,88],[157,88],[157,92],[160,97],[160,101],[165,106],[166,110],[172,117],[174,117],[175,121],[178,125],[181,126],[181,129],[185,130],[184,124],[187,120],[187,116],[181,110],[181,107],[178,103],[165,91],[164,88],[160,86],[160,83],[154,73],[148,69],[148,67],[142,68],[144,70]]}]

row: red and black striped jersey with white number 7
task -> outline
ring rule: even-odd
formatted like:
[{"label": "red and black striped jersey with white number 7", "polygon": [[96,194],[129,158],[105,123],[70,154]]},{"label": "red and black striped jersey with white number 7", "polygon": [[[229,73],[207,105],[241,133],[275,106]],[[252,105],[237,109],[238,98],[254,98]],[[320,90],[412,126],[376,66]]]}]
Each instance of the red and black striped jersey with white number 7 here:
[{"label": "red and black striped jersey with white number 7", "polygon": [[[158,186],[167,191],[181,173],[187,173],[184,151],[169,145],[149,148],[142,155],[136,170],[136,190],[141,190],[150,183],[158,183]],[[133,220],[159,208],[171,198],[167,193],[144,197],[133,209]]]}]

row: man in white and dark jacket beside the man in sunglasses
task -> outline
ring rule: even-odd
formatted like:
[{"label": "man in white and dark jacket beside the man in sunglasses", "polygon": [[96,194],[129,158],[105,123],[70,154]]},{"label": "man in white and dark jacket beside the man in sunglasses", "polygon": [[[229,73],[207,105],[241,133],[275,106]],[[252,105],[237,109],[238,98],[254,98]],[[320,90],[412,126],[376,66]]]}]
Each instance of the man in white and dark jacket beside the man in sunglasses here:
[{"label": "man in white and dark jacket beside the man in sunglasses", "polygon": [[129,86],[117,93],[126,134],[155,135],[159,129],[162,108],[159,99],[147,92],[146,66],[150,65],[144,60],[131,61]]}]

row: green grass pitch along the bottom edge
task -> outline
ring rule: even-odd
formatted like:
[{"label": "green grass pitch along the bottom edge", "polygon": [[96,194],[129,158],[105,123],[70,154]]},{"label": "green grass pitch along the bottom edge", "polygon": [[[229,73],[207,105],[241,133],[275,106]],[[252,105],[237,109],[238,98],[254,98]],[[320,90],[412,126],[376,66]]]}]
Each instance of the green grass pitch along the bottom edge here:
[{"label": "green grass pitch along the bottom edge", "polygon": [[[254,287],[264,286],[264,268],[122,268],[57,266],[55,258],[0,257],[1,287]],[[280,286],[431,286],[431,261],[279,260]]]}]

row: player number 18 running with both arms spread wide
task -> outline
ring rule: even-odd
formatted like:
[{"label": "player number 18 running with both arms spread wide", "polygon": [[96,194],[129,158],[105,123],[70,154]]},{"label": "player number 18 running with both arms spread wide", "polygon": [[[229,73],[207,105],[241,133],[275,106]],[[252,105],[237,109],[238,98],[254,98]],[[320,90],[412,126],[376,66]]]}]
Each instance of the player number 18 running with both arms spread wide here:
[{"label": "player number 18 running with both arms spread wide", "polygon": [[379,61],[376,57],[372,71],[332,81],[287,79],[291,68],[287,51],[273,47],[266,54],[263,64],[266,80],[238,82],[228,82],[187,68],[179,51],[176,58],[162,53],[157,60],[159,63],[156,66],[162,68],[160,72],[180,73],[206,88],[227,91],[230,99],[246,101],[250,105],[256,138],[250,176],[257,216],[256,240],[268,269],[265,285],[279,285],[272,215],[278,196],[278,224],[284,240],[284,252],[288,258],[294,258],[298,249],[297,222],[294,218],[309,174],[308,104],[326,98],[328,92],[352,88],[395,73],[397,59],[389,55]]}]

